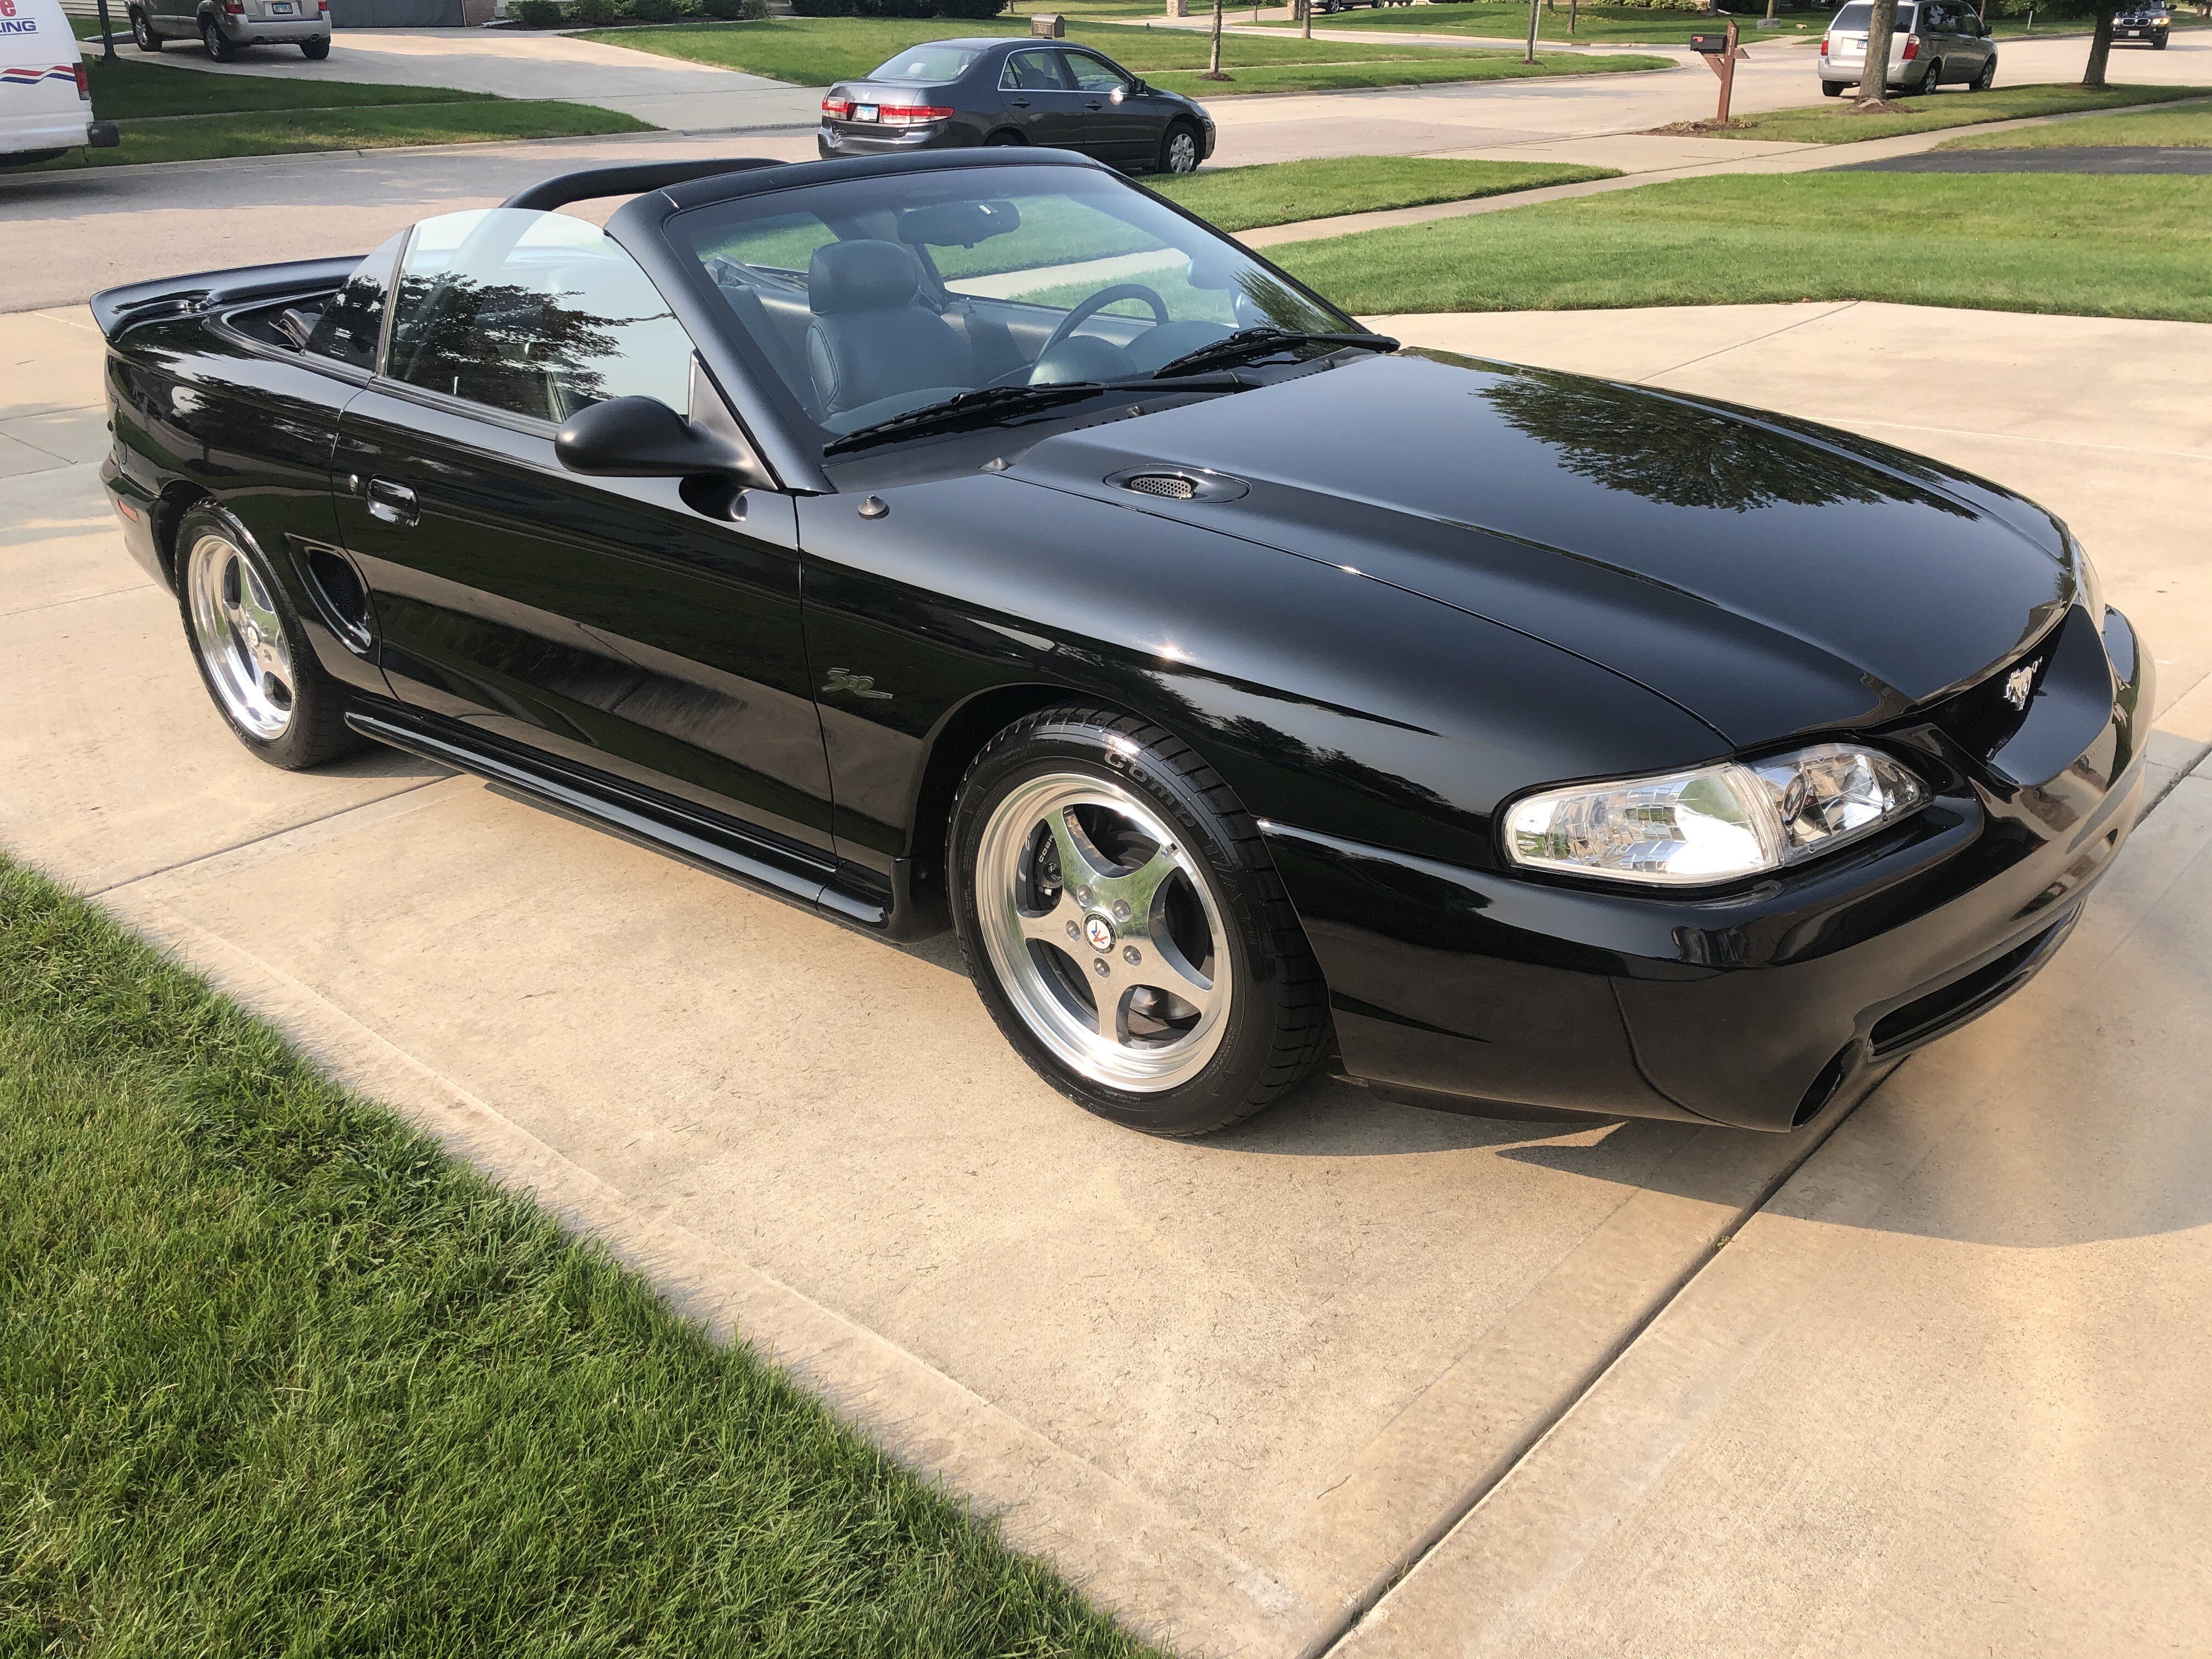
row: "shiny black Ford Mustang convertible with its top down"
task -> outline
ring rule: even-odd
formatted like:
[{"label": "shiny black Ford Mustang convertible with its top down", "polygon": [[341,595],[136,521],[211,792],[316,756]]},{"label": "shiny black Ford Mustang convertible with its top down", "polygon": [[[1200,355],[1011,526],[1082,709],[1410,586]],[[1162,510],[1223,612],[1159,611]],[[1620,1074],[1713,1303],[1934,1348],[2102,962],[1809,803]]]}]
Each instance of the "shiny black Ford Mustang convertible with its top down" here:
[{"label": "shiny black Ford Mustang convertible with its top down", "polygon": [[571,175],[93,305],[250,750],[949,925],[1148,1130],[1316,1064],[1785,1130],[2035,973],[2141,810],[2150,664],[2048,513],[1400,352],[1066,153]]}]

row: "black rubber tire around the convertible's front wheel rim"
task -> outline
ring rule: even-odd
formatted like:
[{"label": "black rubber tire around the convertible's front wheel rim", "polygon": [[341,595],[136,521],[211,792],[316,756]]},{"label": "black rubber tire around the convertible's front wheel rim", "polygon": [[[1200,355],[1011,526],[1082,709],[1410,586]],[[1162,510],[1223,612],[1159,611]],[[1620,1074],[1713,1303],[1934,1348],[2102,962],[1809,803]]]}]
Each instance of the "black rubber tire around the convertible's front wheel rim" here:
[{"label": "black rubber tire around the convertible's front wheel rim", "polygon": [[[1179,836],[1219,918],[1212,975],[1221,984],[1225,951],[1230,987],[1221,1035],[1203,1068],[1172,1088],[1115,1088],[1057,1057],[1015,1006],[982,936],[978,856],[987,825],[1024,785],[1068,774],[1135,799]],[[953,927],[984,1009],[1037,1075],[1088,1113],[1150,1135],[1208,1135],[1274,1104],[1327,1048],[1327,989],[1259,825],[1190,745],[1148,721],[1068,706],[993,737],[960,783],[947,872]],[[1135,942],[1139,933],[1124,938]],[[1113,953],[1110,942],[1102,949]]]}]

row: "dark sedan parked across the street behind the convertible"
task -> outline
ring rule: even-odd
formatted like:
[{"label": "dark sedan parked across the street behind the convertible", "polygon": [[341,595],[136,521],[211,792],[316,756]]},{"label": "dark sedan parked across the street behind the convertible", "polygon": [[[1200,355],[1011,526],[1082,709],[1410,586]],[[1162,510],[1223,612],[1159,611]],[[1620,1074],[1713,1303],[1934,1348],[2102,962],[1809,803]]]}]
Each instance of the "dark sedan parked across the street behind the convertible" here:
[{"label": "dark sedan parked across the street behind the convertible", "polygon": [[1190,173],[1214,153],[1206,106],[1102,51],[1040,40],[929,40],[823,97],[816,150],[900,155],[1035,144],[1128,170]]}]

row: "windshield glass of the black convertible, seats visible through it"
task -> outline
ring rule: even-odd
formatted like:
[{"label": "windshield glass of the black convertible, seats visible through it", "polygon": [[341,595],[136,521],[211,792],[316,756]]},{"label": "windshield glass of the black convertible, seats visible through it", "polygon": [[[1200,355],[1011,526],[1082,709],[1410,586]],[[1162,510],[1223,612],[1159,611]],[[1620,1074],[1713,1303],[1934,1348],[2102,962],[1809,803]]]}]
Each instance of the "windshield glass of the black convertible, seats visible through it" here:
[{"label": "windshield glass of the black convertible, seats visible through it", "polygon": [[[1144,378],[1237,330],[1356,327],[1091,166],[768,190],[679,215],[670,241],[823,445],[980,387]],[[1004,418],[1024,418],[1018,400]]]}]

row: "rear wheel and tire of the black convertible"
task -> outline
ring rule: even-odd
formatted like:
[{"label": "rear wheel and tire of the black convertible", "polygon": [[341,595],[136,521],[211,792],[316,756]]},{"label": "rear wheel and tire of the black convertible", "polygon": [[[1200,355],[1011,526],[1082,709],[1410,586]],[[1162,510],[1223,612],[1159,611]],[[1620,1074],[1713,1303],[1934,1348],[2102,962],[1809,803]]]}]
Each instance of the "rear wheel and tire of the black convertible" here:
[{"label": "rear wheel and tire of the black convertible", "polygon": [[208,695],[254,754],[303,768],[361,748],[345,688],[307,646],[292,599],[252,538],[201,502],[177,529],[184,628]]}]

